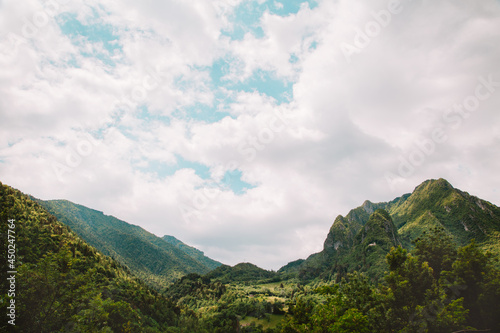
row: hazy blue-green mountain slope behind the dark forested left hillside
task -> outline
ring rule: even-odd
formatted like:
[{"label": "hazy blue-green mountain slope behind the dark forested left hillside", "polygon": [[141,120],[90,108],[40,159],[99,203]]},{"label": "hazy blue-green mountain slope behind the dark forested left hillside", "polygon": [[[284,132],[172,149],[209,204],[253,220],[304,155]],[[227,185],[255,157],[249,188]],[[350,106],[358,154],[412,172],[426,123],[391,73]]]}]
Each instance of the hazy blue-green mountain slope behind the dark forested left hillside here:
[{"label": "hazy blue-green mountain slope behind the dark forested left hillside", "polygon": [[90,245],[156,288],[186,274],[205,274],[212,269],[198,261],[201,256],[193,258],[139,226],[66,200],[36,201]]}]

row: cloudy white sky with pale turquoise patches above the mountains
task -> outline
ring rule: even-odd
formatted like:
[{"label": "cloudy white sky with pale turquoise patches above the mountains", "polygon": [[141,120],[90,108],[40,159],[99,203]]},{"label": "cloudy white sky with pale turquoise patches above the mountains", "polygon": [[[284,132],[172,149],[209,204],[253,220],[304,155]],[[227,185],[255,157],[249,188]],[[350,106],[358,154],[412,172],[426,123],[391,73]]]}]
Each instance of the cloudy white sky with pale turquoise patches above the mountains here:
[{"label": "cloudy white sky with pale turquoise patches above the mountains", "polygon": [[0,0],[0,181],[277,270],[426,179],[500,205],[498,0]]}]

